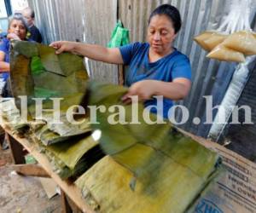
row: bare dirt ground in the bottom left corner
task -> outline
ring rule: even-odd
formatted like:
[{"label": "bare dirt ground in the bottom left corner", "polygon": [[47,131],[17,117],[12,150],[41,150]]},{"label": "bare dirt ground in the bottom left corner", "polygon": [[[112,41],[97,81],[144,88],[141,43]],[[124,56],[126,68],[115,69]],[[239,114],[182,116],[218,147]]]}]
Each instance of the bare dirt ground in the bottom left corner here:
[{"label": "bare dirt ground in the bottom left corner", "polygon": [[48,199],[38,178],[19,176],[12,172],[9,150],[0,148],[0,212],[1,213],[58,213],[59,195]]}]

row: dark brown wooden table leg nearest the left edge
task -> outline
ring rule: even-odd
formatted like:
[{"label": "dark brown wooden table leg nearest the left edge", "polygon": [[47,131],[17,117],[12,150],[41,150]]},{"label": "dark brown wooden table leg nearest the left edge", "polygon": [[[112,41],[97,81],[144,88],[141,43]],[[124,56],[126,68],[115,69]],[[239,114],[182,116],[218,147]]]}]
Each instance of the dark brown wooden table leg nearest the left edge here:
[{"label": "dark brown wooden table leg nearest the left edge", "polygon": [[5,133],[7,141],[9,142],[9,148],[11,149],[12,158],[15,164],[26,164],[26,160],[23,155],[23,147],[18,141],[11,136],[11,132]]}]

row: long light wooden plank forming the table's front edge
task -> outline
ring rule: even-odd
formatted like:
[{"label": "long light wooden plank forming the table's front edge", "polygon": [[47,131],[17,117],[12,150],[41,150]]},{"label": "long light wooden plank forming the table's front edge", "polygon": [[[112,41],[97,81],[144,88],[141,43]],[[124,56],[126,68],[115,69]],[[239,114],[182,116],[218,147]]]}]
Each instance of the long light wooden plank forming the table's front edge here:
[{"label": "long light wooden plank forming the table's front edge", "polygon": [[[9,135],[12,135],[11,130],[5,124],[1,124],[3,129],[8,132]],[[80,210],[86,213],[93,213],[94,211],[90,209],[90,206],[85,204],[84,199],[82,198],[82,194],[78,187],[76,187],[73,183],[62,181],[61,177],[55,174],[55,172],[51,169],[51,165],[49,163],[48,158],[44,156],[43,153],[39,153],[37,148],[26,140],[26,138],[20,138],[18,135],[12,135],[12,137],[18,141],[26,150],[32,154],[34,158],[37,159],[38,163],[42,165],[44,170],[52,177],[52,179],[61,187],[61,189],[67,193],[68,197],[73,200],[74,204],[76,204]]]}]

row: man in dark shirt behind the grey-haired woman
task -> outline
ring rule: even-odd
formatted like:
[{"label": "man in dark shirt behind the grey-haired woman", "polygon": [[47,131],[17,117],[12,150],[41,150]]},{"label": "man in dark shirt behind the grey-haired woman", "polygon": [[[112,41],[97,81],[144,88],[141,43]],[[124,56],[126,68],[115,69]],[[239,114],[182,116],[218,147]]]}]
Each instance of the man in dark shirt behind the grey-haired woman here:
[{"label": "man in dark shirt behind the grey-haired woman", "polygon": [[26,19],[26,23],[29,27],[29,32],[31,33],[29,39],[37,43],[42,43],[42,35],[39,32],[38,27],[34,25],[35,12],[31,8],[26,8],[22,10],[22,15]]}]

